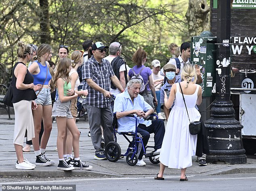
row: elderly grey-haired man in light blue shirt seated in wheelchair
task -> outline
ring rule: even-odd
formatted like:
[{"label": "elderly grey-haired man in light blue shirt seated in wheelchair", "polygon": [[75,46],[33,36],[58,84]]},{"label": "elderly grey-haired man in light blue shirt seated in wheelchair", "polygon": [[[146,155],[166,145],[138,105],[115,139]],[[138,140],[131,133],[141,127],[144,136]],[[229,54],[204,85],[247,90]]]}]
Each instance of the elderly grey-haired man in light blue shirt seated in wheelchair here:
[{"label": "elderly grey-haired man in light blue shirt seated in wheelchair", "polygon": [[[154,152],[152,153],[154,156],[158,154],[159,157],[162,141],[164,138],[165,127],[164,121],[161,119],[145,120],[145,118],[154,112],[154,109],[147,102],[145,102],[143,96],[139,94],[140,88],[141,81],[139,79],[131,79],[127,83],[126,91],[116,96],[114,103],[114,113],[116,114],[117,118],[118,133],[136,132],[136,137],[139,137],[138,139],[142,139],[143,144],[137,142],[138,162],[136,165],[145,166],[146,163],[142,159],[143,155],[146,154],[143,145],[146,147],[150,134],[154,133],[155,146]],[[132,115],[133,117],[127,117],[128,115]],[[135,124],[137,125],[137,128]],[[156,156],[155,158],[158,157]]]}]

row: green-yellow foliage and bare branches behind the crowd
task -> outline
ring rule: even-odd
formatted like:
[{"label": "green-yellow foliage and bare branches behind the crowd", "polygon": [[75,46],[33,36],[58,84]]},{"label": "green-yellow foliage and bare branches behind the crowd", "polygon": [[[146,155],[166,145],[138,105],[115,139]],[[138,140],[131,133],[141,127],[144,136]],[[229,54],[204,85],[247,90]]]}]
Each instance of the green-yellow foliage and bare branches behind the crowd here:
[{"label": "green-yellow foliage and bare branches behind the crowd", "polygon": [[[59,45],[68,45],[71,51],[82,50],[82,42],[92,39],[107,45],[122,42],[122,54],[130,66],[132,54],[139,47],[147,52],[148,64],[158,59],[164,65],[171,56],[168,44],[180,45],[189,40],[185,20],[187,0],[44,1],[48,2],[48,19],[42,19],[46,11],[39,0],[0,2],[0,60],[8,74],[17,60],[17,42],[41,44],[40,36],[47,31],[40,22],[49,26],[46,42],[52,46],[54,62],[58,59]],[[0,79],[0,83],[8,80]]]}]

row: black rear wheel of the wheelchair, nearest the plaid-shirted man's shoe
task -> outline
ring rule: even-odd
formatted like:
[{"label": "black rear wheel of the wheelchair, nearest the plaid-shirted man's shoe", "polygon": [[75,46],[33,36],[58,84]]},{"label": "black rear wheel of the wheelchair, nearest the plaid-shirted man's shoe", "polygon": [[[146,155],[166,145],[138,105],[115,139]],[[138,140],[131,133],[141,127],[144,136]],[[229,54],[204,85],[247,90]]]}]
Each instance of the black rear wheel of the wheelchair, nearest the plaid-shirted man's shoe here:
[{"label": "black rear wheel of the wheelchair, nearest the plaid-shirted man's shoe", "polygon": [[116,162],[121,156],[121,148],[115,141],[110,141],[105,146],[105,155],[110,162]]}]

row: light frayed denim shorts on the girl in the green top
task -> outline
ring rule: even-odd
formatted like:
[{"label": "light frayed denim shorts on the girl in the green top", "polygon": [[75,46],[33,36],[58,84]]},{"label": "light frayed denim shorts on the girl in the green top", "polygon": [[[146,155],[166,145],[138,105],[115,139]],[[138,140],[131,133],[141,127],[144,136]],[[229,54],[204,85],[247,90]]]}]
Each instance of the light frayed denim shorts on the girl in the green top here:
[{"label": "light frayed denim shorts on the girl in the green top", "polygon": [[53,103],[52,107],[52,117],[67,117],[68,119],[72,119],[73,116],[70,112],[70,104],[71,101],[67,102],[61,102],[59,98],[56,100],[56,102]]}]

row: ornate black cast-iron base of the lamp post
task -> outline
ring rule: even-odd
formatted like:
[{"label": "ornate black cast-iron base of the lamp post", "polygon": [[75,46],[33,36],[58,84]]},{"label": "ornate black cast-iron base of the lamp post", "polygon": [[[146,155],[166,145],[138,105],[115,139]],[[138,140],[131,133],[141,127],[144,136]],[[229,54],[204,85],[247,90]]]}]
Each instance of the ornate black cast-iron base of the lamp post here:
[{"label": "ornate black cast-iron base of the lamp post", "polygon": [[224,161],[229,164],[247,162],[243,149],[241,129],[243,125],[235,120],[231,101],[214,101],[211,118],[205,121],[209,136],[210,154],[207,162]]}]

